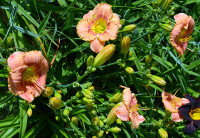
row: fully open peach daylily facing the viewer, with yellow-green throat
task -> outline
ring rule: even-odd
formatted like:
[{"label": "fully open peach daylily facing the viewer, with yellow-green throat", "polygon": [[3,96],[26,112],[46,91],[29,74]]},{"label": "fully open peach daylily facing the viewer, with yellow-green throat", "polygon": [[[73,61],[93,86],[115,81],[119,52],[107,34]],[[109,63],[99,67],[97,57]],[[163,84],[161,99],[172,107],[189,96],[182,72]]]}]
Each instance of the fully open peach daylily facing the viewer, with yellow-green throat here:
[{"label": "fully open peach daylily facing the viewer, with yellow-green throat", "polygon": [[100,3],[83,16],[76,29],[79,37],[90,41],[91,50],[98,53],[106,41],[117,38],[120,27],[120,18],[112,12],[111,5]]}]

